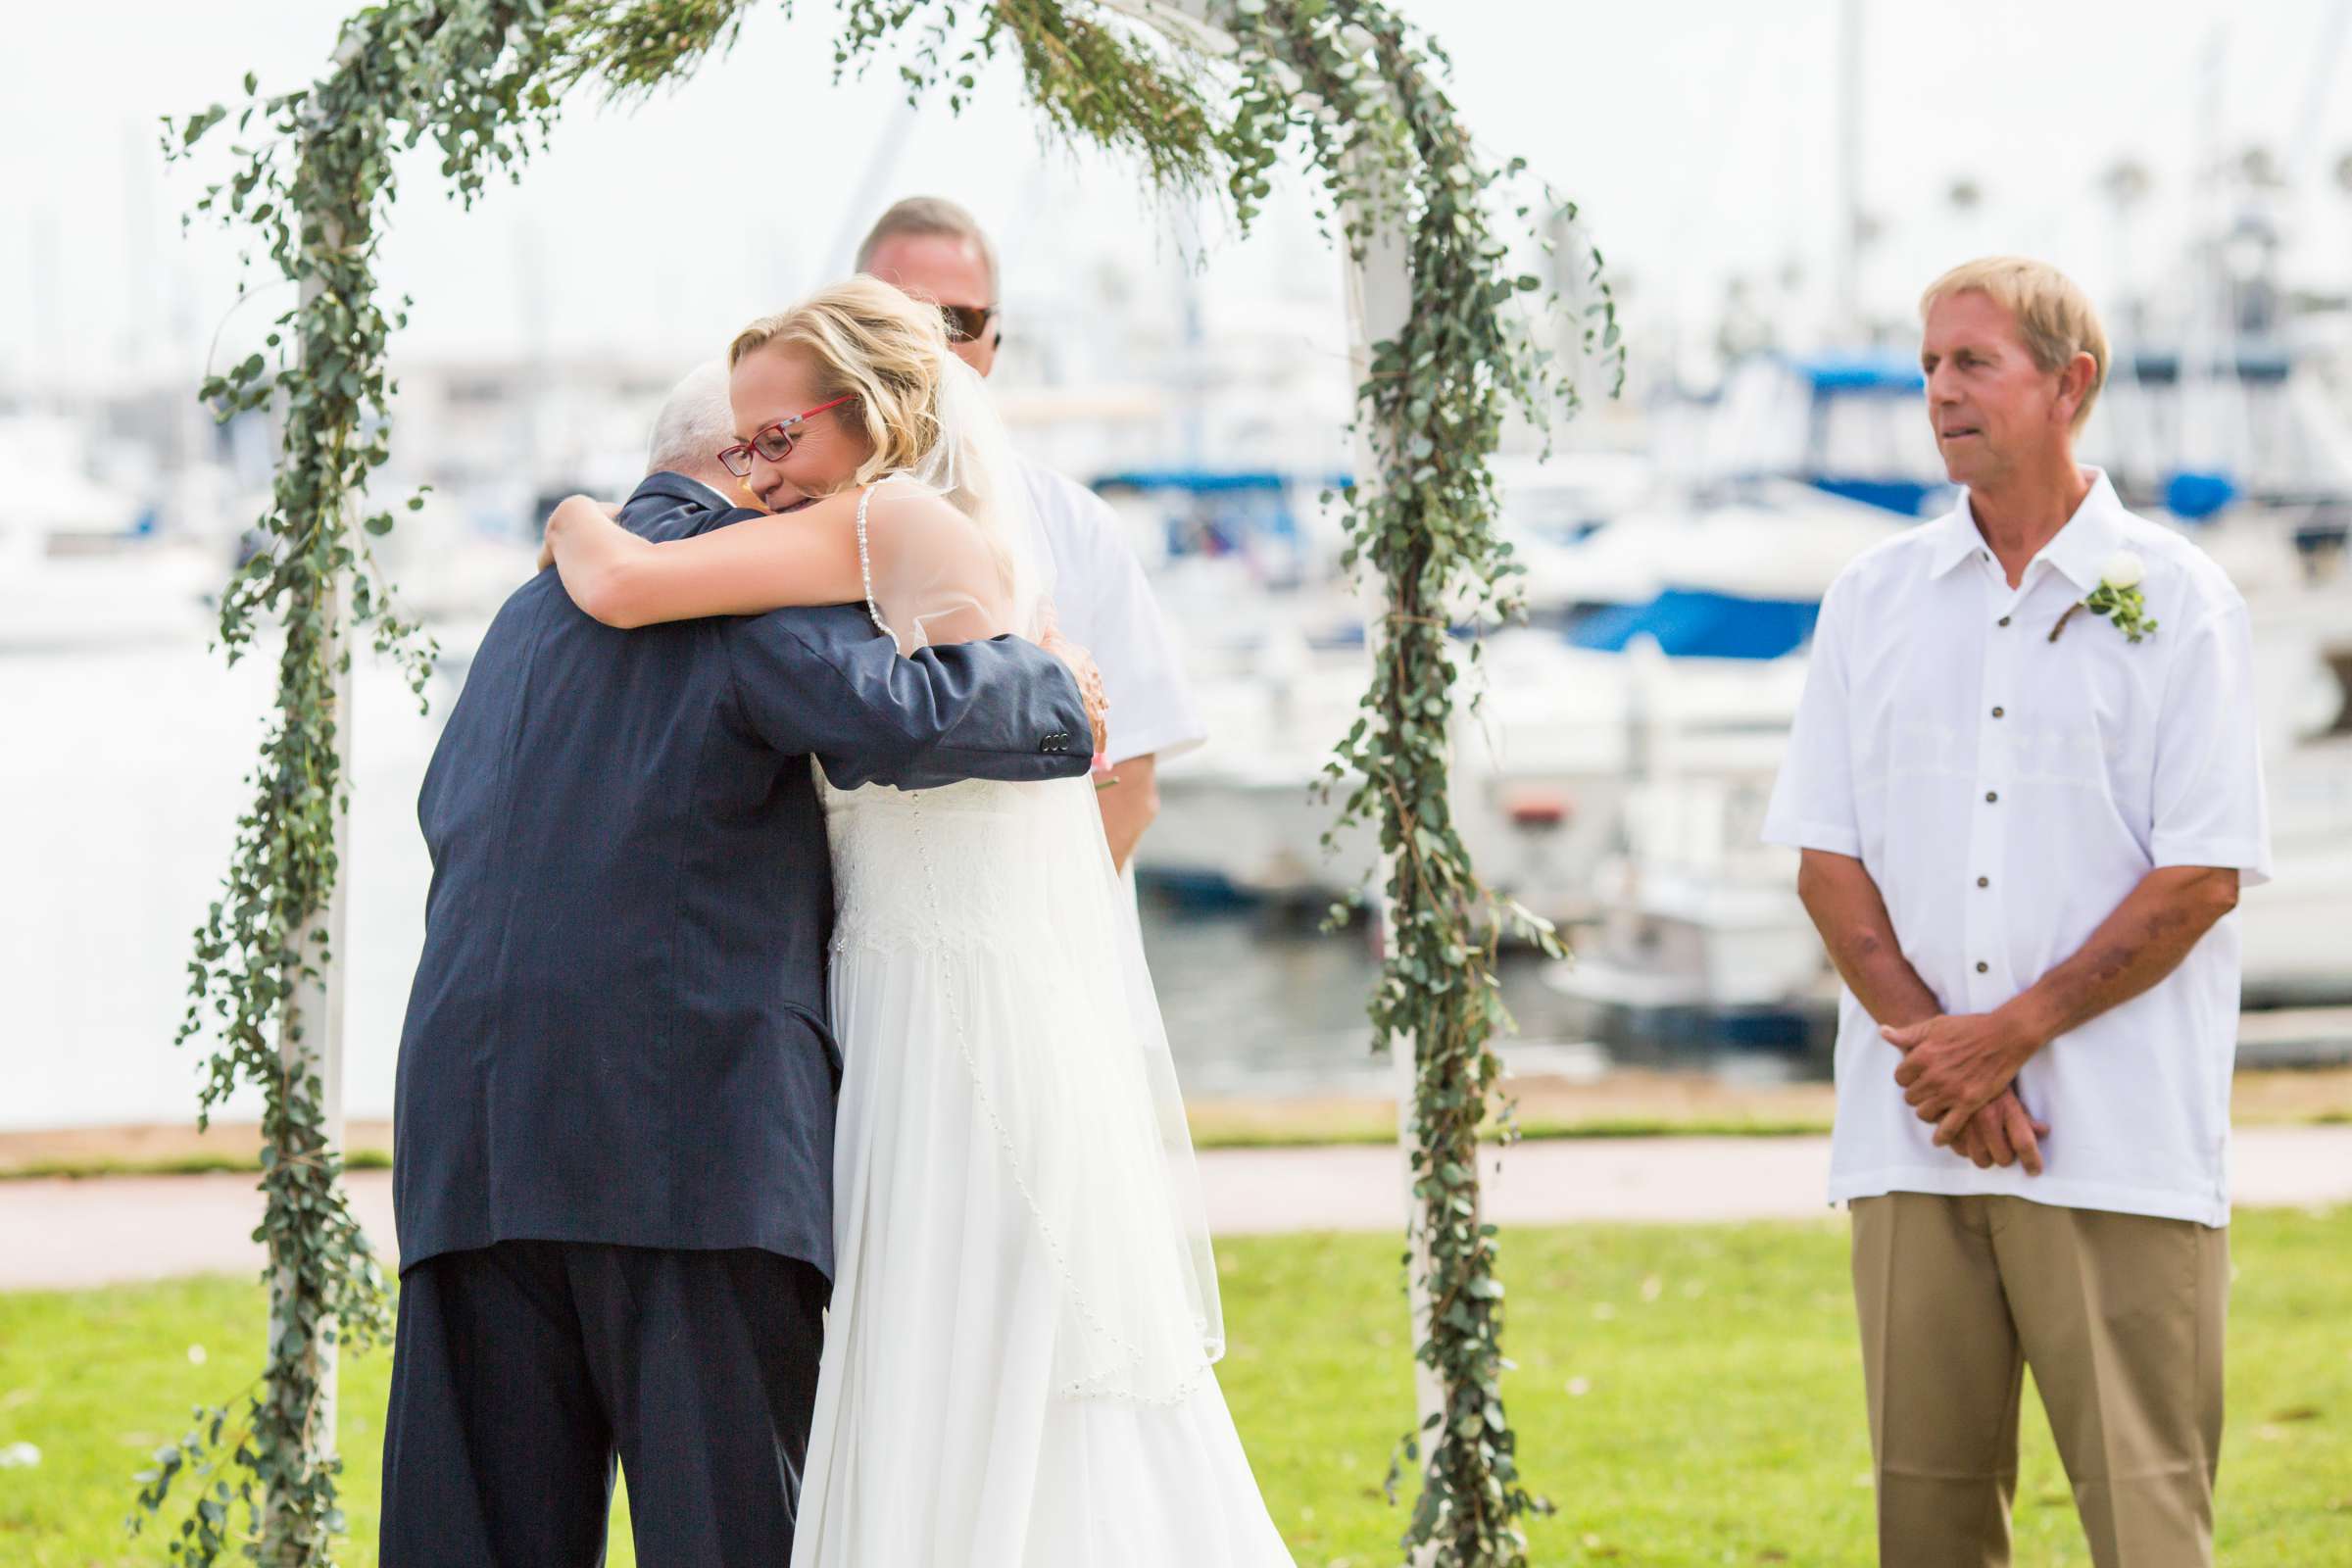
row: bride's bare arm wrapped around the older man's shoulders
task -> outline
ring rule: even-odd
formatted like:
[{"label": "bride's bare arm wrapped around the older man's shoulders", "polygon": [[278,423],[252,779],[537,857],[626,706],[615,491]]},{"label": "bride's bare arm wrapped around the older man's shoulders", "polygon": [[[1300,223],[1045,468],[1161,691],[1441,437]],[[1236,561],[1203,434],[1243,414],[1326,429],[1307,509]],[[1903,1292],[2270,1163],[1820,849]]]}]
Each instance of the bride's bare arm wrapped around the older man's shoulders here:
[{"label": "bride's bare arm wrapped around the older man's shoulders", "polygon": [[856,508],[849,491],[797,512],[654,543],[588,496],[572,496],[548,517],[543,555],[553,555],[574,604],[619,628],[856,604],[866,597]]}]

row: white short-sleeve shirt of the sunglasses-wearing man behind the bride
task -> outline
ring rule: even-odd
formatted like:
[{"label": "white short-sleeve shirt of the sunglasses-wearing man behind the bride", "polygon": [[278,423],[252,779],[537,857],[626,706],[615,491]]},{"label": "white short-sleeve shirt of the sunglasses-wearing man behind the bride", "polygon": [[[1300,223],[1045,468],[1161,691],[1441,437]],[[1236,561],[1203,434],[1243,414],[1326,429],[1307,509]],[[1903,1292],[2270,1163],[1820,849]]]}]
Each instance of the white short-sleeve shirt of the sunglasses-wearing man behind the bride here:
[{"label": "white short-sleeve shirt of the sunglasses-wearing man behind the bride", "polygon": [[1185,684],[1178,642],[1160,614],[1143,562],[1120,536],[1120,517],[1091,489],[1021,463],[1030,503],[1054,552],[1054,607],[1063,635],[1094,654],[1110,698],[1110,762],[1162,762],[1209,738]]}]

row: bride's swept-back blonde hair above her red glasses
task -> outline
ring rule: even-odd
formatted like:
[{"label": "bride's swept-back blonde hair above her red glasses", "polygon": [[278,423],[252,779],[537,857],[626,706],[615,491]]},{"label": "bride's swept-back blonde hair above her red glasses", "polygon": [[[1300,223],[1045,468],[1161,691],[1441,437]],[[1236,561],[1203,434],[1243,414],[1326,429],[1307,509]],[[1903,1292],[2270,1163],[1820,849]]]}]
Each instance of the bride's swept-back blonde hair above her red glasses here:
[{"label": "bride's swept-back blonde hair above her red glasses", "polygon": [[880,277],[851,277],[739,331],[727,346],[727,369],[760,348],[804,350],[816,367],[818,402],[856,400],[833,411],[873,442],[854,487],[913,468],[938,444],[938,376],[948,355],[938,308]]}]

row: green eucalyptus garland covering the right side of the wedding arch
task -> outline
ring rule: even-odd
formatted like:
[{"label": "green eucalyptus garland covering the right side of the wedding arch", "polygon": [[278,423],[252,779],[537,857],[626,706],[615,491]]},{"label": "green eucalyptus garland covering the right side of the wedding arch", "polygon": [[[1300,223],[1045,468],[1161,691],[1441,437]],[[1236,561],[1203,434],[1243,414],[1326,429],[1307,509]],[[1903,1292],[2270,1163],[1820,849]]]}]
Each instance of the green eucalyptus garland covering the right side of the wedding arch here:
[{"label": "green eucalyptus garland covering the right side of the wedding arch", "polygon": [[[1491,167],[1477,155],[1439,85],[1444,54],[1374,0],[1240,0],[1235,33],[1244,45],[1240,141],[1272,148],[1282,129],[1301,132],[1359,259],[1378,230],[1404,237],[1411,313],[1395,339],[1371,346],[1357,388],[1381,473],[1350,496],[1345,557],[1378,571],[1388,614],[1364,712],[1327,780],[1352,785],[1341,827],[1378,827],[1390,943],[1371,997],[1374,1041],[1414,1053],[1414,1232],[1430,1302],[1416,1354],[1444,1399],[1402,1448],[1421,1462],[1404,1544],[1461,1568],[1524,1563],[1519,1521],[1548,1505],[1519,1476],[1503,1410],[1503,1284],[1477,1157],[1503,1077],[1494,1044],[1510,1027],[1498,943],[1512,931],[1559,950],[1545,922],[1486,891],[1454,827],[1451,628],[1517,614],[1519,569],[1496,531],[1486,458],[1512,411],[1548,428],[1552,414],[1576,409],[1578,390],[1512,308],[1543,277],[1515,273],[1510,244],[1494,233],[1501,190],[1524,165]],[[1235,179],[1237,200],[1263,200],[1263,169]],[[1595,301],[1583,348],[1616,371],[1616,393],[1623,353],[1597,256],[1585,282]],[[1411,1251],[1406,1267],[1416,1267]]]}]

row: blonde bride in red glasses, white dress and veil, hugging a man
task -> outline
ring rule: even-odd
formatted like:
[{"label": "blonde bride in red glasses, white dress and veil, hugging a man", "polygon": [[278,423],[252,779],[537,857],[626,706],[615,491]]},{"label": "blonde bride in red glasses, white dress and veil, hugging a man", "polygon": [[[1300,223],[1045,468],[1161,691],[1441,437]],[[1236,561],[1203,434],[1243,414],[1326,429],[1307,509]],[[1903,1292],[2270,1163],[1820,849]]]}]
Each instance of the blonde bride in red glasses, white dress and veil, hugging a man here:
[{"label": "blonde bride in red glasses, white dress and veil, hugging a man", "polygon": [[[729,364],[720,458],[774,515],[649,543],[567,501],[581,609],[863,602],[901,654],[1051,630],[1051,555],[936,310],[858,277]],[[1211,1371],[1200,1178],[1091,788],[823,799],[837,1262],[793,1566],[1287,1566]]]}]

